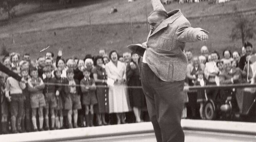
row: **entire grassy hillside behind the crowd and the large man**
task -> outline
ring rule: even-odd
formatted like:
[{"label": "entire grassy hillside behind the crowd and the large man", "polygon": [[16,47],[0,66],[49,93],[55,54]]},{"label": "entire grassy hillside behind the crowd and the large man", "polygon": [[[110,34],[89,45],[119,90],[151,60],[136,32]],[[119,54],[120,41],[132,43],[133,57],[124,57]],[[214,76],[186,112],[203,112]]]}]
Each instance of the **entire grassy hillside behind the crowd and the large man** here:
[{"label": "entire grassy hillside behind the crowd and the large man", "polygon": [[[209,5],[207,2],[183,5],[172,3],[165,8],[167,11],[181,9],[192,27],[201,27],[210,32],[209,41],[186,44],[186,49],[191,49],[198,55],[203,45],[220,53],[226,48],[240,51],[241,40],[231,41],[229,38],[235,24],[234,17],[212,15],[232,13],[235,7],[238,11],[253,10],[256,8],[255,2],[256,0],[235,0],[224,5]],[[109,14],[112,6],[118,8],[117,13]],[[97,54],[102,48],[108,52],[116,49],[122,53],[128,51],[126,46],[132,44],[132,38],[133,43],[146,41],[146,9],[147,14],[152,11],[149,0],[137,0],[133,3],[127,3],[127,0],[106,0],[87,6],[15,17],[8,22],[0,22],[0,47],[4,44],[9,52],[30,53],[32,58],[44,55],[46,51],[57,54],[60,47],[63,48],[65,57],[76,55],[83,58],[86,54]],[[89,15],[91,27],[88,25]],[[193,18],[203,15],[210,16]],[[134,23],[133,37],[130,17]],[[255,14],[250,17],[255,18]],[[135,24],[136,22],[139,23]],[[254,39],[250,41],[256,46]],[[47,46],[50,48],[39,52]]]}]

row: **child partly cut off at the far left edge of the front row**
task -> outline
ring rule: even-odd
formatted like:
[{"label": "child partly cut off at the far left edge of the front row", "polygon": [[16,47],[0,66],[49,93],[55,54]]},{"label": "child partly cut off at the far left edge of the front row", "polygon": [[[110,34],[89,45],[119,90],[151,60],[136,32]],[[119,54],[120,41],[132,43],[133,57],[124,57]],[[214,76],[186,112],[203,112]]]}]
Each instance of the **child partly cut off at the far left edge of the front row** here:
[{"label": "child partly cut off at the far left edge of the front row", "polygon": [[7,134],[7,117],[9,113],[9,108],[8,108],[8,101],[7,98],[5,97],[5,77],[0,76],[0,96],[1,96],[1,123],[2,123],[2,134]]}]

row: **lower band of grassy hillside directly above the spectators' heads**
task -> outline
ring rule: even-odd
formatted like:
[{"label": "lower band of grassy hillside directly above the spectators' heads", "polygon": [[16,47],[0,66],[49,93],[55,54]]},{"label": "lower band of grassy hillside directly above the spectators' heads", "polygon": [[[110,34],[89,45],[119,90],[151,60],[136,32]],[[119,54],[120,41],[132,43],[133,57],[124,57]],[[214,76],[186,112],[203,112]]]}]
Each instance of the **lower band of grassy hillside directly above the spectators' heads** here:
[{"label": "lower band of grassy hillside directly above the spectators' heads", "polygon": [[[203,45],[208,46],[210,50],[218,50],[220,53],[227,47],[232,51],[241,51],[241,41],[231,41],[229,38],[232,29],[230,25],[233,25],[232,17],[191,19],[190,22],[193,27],[202,27],[210,32],[209,41],[186,44],[186,49],[191,49],[194,54],[198,55]],[[4,43],[8,51],[22,54],[28,52],[32,57],[44,55],[45,52],[39,51],[50,46],[46,51],[57,53],[58,48],[62,47],[65,57],[76,55],[81,58],[86,54],[97,54],[101,48],[107,49],[108,52],[116,49],[122,53],[127,51],[126,46],[132,43],[129,24],[93,25],[92,31],[91,36],[90,26],[83,26],[29,32],[0,39],[0,43]],[[134,43],[146,41],[147,34],[146,24],[133,25]],[[15,44],[13,44],[13,38]],[[256,45],[255,40],[251,42]]]}]

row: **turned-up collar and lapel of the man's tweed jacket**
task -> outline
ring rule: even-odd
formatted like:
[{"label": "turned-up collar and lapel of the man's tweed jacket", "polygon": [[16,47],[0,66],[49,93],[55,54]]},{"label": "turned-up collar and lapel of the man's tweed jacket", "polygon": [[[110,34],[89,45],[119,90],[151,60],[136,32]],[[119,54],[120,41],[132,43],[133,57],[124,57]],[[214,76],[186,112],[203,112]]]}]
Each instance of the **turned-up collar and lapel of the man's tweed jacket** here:
[{"label": "turned-up collar and lapel of the man's tweed jacket", "polygon": [[169,18],[165,19],[162,23],[160,23],[157,26],[156,30],[154,30],[154,32],[150,36],[154,35],[158,31],[160,31],[162,28],[167,27],[168,24],[172,24],[178,17],[182,15],[182,13],[180,9],[175,9],[173,11],[168,12],[167,15],[169,16]]}]

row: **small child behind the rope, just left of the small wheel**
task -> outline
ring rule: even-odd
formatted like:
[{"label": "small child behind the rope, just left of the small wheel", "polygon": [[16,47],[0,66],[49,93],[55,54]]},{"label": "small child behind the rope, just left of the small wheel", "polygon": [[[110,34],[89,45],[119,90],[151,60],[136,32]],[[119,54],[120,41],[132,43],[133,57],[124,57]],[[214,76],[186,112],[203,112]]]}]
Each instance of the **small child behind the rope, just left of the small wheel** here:
[{"label": "small child behind the rope, just left of the small wheel", "polygon": [[[203,71],[198,71],[196,73],[196,81],[194,82],[194,86],[204,86],[206,85],[206,80],[204,80],[204,72]],[[200,117],[204,119],[204,113],[203,113],[203,106],[204,106],[204,101],[205,101],[205,90],[198,90],[197,93],[197,102],[200,103]]]}]

